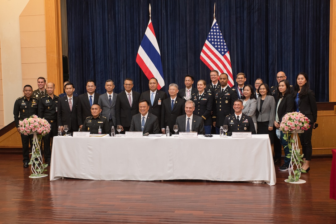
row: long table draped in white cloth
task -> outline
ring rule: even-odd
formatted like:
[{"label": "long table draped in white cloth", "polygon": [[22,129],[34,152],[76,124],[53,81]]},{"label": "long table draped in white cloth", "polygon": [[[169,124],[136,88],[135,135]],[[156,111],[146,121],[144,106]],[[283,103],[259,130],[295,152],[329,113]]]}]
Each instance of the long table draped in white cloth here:
[{"label": "long table draped in white cloth", "polygon": [[50,181],[68,177],[276,184],[268,135],[252,135],[252,138],[173,136],[54,137]]}]

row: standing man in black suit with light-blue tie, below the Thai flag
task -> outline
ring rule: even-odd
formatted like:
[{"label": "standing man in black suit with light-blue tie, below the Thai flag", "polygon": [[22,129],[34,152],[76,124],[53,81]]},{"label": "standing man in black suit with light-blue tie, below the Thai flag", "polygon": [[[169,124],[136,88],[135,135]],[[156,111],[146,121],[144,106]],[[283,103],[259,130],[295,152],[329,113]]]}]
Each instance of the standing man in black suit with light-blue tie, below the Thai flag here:
[{"label": "standing man in black suit with light-blue tie, below the Thai flag", "polygon": [[156,78],[151,78],[148,85],[150,90],[142,92],[139,100],[150,102],[149,112],[158,117],[160,126],[162,101],[167,99],[168,96],[164,91],[158,90],[158,80]]}]

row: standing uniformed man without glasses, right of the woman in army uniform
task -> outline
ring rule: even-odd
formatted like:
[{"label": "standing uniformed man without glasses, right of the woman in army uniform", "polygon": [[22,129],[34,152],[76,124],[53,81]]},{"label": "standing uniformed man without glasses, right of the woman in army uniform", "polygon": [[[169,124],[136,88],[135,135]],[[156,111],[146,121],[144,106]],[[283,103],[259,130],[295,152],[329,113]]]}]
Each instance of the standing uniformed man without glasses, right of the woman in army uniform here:
[{"label": "standing uniformed man without glasses, right of the woman in army uniform", "polygon": [[233,104],[238,99],[237,92],[228,86],[227,81],[228,75],[220,74],[220,88],[215,91],[215,102],[212,108],[212,124],[216,127],[216,134],[219,134],[219,127],[223,124],[224,118],[234,113]]}]

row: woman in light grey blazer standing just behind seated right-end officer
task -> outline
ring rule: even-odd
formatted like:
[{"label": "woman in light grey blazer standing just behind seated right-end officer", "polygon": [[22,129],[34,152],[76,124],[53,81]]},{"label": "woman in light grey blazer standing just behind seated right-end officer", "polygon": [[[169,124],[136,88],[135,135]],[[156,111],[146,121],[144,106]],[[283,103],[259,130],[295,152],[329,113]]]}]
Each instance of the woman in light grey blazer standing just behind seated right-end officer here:
[{"label": "woman in light grey blazer standing just behind seated right-end officer", "polygon": [[257,112],[257,100],[254,99],[254,91],[252,85],[245,85],[243,88],[243,97],[240,99],[243,101],[243,114],[246,114],[250,117],[252,117],[255,131],[257,133],[257,117],[256,117],[256,112]]}]

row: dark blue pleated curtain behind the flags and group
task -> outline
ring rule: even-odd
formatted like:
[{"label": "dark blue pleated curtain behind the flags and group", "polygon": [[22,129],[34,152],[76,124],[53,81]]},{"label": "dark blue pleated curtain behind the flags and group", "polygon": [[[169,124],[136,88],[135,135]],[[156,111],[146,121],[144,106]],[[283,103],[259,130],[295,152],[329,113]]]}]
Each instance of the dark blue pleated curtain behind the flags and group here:
[{"label": "dark blue pleated curtain behind the flags and group", "polygon": [[293,85],[296,75],[306,72],[317,101],[329,101],[330,0],[67,0],[70,81],[79,94],[87,79],[96,80],[99,93],[110,78],[117,93],[127,77],[135,91],[148,90],[135,58],[151,3],[166,83],[162,90],[172,82],[184,87],[186,74],[195,77],[194,86],[199,79],[209,82],[200,52],[215,2],[234,75],[244,72],[246,83],[262,78],[273,86],[278,71]]}]

